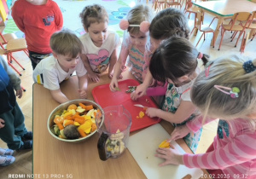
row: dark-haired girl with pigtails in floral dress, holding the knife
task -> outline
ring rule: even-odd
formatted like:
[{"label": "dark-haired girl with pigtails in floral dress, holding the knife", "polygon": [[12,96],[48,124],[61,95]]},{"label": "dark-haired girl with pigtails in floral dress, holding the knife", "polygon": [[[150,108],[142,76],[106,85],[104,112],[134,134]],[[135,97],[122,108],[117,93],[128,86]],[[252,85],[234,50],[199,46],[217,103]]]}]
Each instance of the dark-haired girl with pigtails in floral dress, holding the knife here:
[{"label": "dark-haired girl with pigtails in floral dress, holding the knife", "polygon": [[[149,71],[154,79],[168,85],[162,109],[148,107],[146,114],[150,118],[162,118],[174,126],[195,118],[197,112],[190,100],[190,89],[200,71],[197,59],[201,59],[204,65],[207,63],[206,56],[199,53],[186,38],[169,38],[155,50]],[[200,136],[201,130],[184,137],[193,152]]]}]

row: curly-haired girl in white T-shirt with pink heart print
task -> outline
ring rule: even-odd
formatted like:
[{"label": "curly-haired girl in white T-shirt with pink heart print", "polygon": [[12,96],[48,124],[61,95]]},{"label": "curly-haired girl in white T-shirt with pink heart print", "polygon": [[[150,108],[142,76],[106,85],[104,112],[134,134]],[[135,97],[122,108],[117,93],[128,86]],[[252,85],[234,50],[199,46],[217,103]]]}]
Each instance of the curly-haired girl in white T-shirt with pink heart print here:
[{"label": "curly-haired girl in white T-shirt with pink heart print", "polygon": [[117,61],[116,49],[119,37],[115,32],[108,32],[108,13],[101,5],[86,6],[80,14],[85,33],[80,37],[84,50],[81,55],[88,78],[98,82],[99,73],[108,68],[112,78],[113,66]]}]

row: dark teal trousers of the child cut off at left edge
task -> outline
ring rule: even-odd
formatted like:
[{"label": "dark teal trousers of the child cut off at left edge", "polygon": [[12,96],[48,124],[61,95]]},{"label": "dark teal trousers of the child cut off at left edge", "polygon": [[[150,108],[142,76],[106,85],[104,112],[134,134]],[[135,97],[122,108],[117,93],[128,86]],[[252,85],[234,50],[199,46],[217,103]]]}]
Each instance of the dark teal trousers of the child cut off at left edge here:
[{"label": "dark teal trousers of the child cut off at left edge", "polygon": [[6,113],[1,113],[0,118],[4,120],[4,127],[0,129],[0,138],[7,143],[10,149],[17,150],[23,144],[21,136],[27,132],[24,124],[24,115],[18,103]]}]

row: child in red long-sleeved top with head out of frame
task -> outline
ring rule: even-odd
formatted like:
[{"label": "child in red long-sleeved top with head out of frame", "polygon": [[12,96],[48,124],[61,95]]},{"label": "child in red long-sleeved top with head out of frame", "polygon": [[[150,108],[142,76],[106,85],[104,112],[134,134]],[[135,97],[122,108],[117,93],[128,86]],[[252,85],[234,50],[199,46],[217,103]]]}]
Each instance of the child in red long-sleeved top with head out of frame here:
[{"label": "child in red long-sleeved top with head out of frame", "polygon": [[25,33],[33,70],[51,54],[49,38],[63,26],[61,9],[52,0],[18,0],[12,16],[21,32]]}]

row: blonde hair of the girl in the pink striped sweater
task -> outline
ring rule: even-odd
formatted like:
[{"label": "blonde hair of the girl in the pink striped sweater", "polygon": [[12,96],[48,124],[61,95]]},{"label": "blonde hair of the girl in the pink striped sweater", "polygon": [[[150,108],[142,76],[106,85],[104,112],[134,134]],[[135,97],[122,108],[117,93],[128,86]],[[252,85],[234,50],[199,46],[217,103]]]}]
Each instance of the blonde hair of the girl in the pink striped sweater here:
[{"label": "blonde hair of the girl in the pink striped sweater", "polygon": [[[256,109],[256,71],[247,73],[243,63],[245,58],[231,55],[212,61],[206,71],[195,79],[191,89],[191,100],[204,116],[224,119],[247,118]],[[256,59],[253,60],[256,66]],[[237,98],[214,88],[214,85],[237,87]],[[255,121],[252,120],[253,126]]]}]

